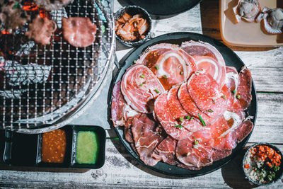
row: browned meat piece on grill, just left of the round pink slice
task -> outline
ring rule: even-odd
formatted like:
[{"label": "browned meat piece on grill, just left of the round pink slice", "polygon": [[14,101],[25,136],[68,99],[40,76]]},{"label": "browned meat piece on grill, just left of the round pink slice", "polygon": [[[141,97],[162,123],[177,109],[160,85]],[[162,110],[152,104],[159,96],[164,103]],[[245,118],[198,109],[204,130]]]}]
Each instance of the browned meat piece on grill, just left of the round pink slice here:
[{"label": "browned meat piece on grill, just left of the round pink slice", "polygon": [[33,22],[28,25],[28,31],[25,33],[28,39],[35,40],[41,45],[49,45],[51,36],[57,30],[57,25],[54,21],[45,18],[40,18],[37,15]]}]

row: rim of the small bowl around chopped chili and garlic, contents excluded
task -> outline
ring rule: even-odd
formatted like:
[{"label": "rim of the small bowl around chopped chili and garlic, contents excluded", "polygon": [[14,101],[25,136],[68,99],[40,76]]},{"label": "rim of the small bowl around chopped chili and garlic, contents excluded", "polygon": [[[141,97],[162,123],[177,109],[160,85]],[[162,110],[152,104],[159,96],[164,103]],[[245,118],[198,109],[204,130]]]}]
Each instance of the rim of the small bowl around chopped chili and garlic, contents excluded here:
[{"label": "rim of the small bowl around chopped chili and garlic, contents excluded", "polygon": [[250,151],[250,149],[252,149],[253,147],[256,147],[256,146],[258,146],[258,145],[265,145],[265,146],[267,146],[267,147],[271,147],[271,148],[274,149],[278,154],[280,154],[281,157],[283,157],[282,152],[281,152],[277,147],[275,147],[275,145],[270,144],[270,143],[266,143],[266,142],[255,143],[255,144],[253,144],[252,146],[250,146],[250,147],[247,149],[247,151],[245,152],[245,155],[243,156],[243,164],[242,164],[243,173],[245,173],[245,177],[246,177],[246,178],[248,179],[248,181],[249,181],[250,183],[252,183],[253,185],[271,185],[271,184],[276,183],[277,181],[279,181],[280,178],[282,177],[282,173],[283,173],[283,165],[282,165],[282,164],[280,164],[280,166],[279,166],[279,171],[278,171],[277,174],[276,174],[275,180],[272,181],[271,183],[259,183],[258,181],[253,181],[253,180],[250,178],[250,176],[248,176],[248,174],[247,174],[246,171],[245,171],[245,167],[244,167],[244,166],[245,166],[245,160],[246,160],[246,158],[247,158],[247,156],[248,156],[248,151]]}]

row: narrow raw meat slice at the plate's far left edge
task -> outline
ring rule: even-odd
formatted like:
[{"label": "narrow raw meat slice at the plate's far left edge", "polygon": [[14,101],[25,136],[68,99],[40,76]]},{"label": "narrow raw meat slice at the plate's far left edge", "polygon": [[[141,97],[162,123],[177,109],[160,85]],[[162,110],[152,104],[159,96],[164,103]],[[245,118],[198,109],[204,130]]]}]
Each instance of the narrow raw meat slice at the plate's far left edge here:
[{"label": "narrow raw meat slice at the plate's far left edge", "polygon": [[112,104],[111,104],[111,115],[112,122],[114,127],[125,125],[129,118],[132,118],[134,115],[138,113],[132,110],[129,105],[125,102],[121,90],[121,81],[118,81],[117,84],[113,87],[112,91]]}]

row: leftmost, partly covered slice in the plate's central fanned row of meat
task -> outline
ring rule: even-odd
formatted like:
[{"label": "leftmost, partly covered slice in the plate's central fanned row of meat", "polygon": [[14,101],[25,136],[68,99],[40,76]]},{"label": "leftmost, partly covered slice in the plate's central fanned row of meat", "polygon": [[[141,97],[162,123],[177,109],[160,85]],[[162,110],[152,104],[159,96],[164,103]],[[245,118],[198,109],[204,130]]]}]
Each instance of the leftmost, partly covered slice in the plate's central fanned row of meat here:
[{"label": "leftmost, partly covered slice in the plate's central fanned row of meat", "polygon": [[190,136],[192,132],[185,129],[185,127],[176,127],[179,125],[179,122],[176,121],[171,113],[170,108],[168,107],[167,100],[168,93],[162,93],[154,103],[154,114],[163,129],[169,134],[173,139],[184,139]]}]

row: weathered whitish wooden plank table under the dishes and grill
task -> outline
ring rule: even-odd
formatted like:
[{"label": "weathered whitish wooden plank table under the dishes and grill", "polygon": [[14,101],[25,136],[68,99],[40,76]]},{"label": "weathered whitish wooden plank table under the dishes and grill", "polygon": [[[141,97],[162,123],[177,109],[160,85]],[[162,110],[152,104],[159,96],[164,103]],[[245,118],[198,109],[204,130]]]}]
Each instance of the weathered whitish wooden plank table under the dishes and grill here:
[{"label": "weathered whitish wooden plank table under the dishes and grill", "polygon": [[[115,11],[125,5],[115,1]],[[177,31],[203,33],[221,40],[219,1],[203,0],[190,11],[177,16],[154,19],[154,35]],[[247,145],[271,142],[283,150],[283,47],[231,47],[251,70],[258,93],[258,120]],[[117,57],[129,48],[117,43]],[[108,131],[108,137],[116,137]],[[107,139],[106,161],[98,170],[11,168],[1,166],[0,188],[253,188],[243,178],[241,155],[223,168],[195,178],[161,175],[139,164],[117,139]],[[270,188],[283,188],[283,179]]]}]

